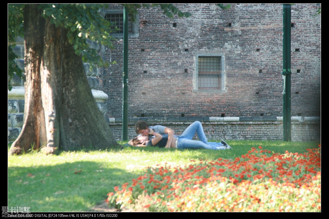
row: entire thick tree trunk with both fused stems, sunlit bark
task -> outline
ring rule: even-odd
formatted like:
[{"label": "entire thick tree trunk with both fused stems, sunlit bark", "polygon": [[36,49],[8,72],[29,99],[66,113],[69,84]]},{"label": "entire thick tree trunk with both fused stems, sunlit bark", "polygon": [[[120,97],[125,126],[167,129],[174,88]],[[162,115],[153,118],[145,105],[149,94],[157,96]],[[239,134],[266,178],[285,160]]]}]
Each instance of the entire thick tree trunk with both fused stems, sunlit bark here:
[{"label": "entire thick tree trunk with both fused stems, sunlit bark", "polygon": [[10,153],[48,146],[62,150],[119,146],[92,96],[82,58],[67,30],[24,9],[25,111],[22,131]]}]

